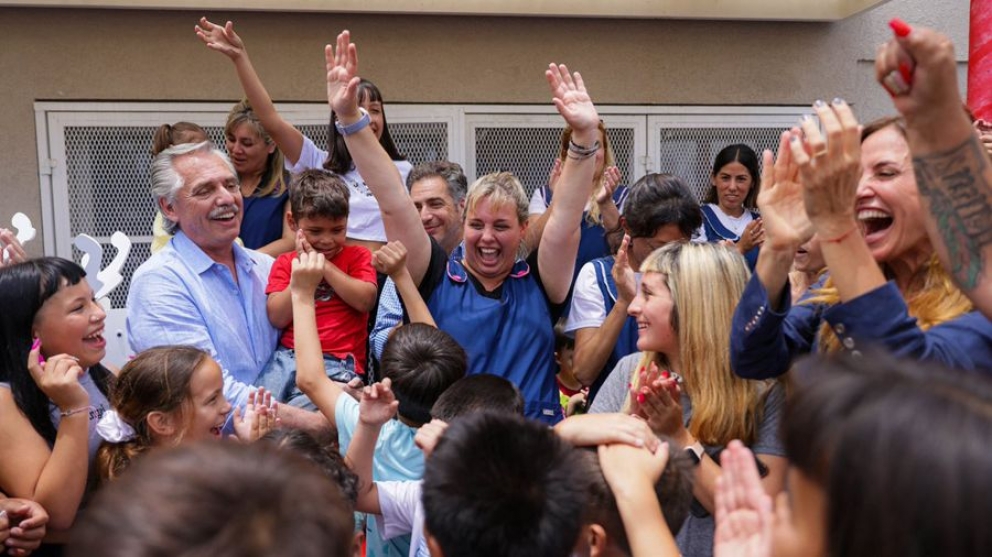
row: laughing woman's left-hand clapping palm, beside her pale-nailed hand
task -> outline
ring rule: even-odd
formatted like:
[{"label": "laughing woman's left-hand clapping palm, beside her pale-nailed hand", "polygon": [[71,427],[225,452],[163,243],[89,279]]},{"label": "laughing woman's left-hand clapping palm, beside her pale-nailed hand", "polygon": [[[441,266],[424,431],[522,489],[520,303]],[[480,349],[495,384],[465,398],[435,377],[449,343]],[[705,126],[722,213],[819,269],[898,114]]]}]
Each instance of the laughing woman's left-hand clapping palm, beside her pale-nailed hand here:
[{"label": "laughing woman's left-hand clapping palm, beside her pale-nailed hand", "polygon": [[764,152],[758,193],[765,241],[772,249],[790,252],[813,237],[813,223],[806,216],[803,187],[799,183],[799,165],[789,147],[789,139],[798,137],[799,133],[799,128],[782,132],[777,158],[771,151]]}]

